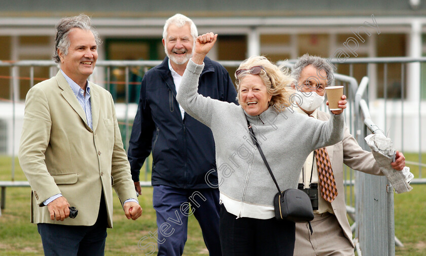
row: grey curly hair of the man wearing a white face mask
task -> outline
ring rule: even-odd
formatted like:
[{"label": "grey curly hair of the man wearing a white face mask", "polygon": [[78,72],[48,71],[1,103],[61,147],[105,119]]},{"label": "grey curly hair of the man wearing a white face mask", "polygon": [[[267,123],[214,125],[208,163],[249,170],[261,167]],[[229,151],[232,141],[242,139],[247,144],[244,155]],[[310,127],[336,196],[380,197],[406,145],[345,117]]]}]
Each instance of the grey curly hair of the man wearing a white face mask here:
[{"label": "grey curly hair of the man wearing a white face mask", "polygon": [[309,54],[304,54],[303,56],[299,57],[296,61],[296,63],[293,65],[292,68],[292,76],[296,81],[299,81],[300,74],[302,73],[303,68],[305,68],[308,65],[312,65],[314,68],[317,69],[317,75],[319,78],[326,79],[325,77],[322,77],[319,74],[319,70],[324,70],[327,73],[327,85],[330,86],[334,80],[333,71],[334,67],[327,62],[326,59],[313,56]]}]

